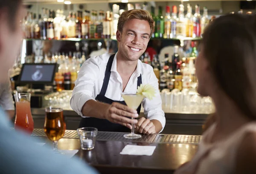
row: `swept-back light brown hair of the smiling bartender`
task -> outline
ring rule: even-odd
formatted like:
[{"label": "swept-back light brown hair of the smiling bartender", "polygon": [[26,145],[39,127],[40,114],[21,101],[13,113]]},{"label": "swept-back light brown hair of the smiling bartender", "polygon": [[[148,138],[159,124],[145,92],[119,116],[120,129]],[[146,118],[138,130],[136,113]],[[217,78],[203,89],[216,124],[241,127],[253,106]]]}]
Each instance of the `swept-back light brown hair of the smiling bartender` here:
[{"label": "swept-back light brown hair of the smiling bartender", "polygon": [[150,37],[151,37],[151,34],[154,31],[154,20],[153,20],[153,17],[151,16],[151,14],[146,10],[134,9],[134,10],[129,10],[129,11],[123,12],[121,14],[121,16],[119,17],[118,24],[117,24],[117,30],[122,32],[125,22],[127,22],[128,20],[132,20],[132,19],[148,21],[148,24],[150,26]]}]

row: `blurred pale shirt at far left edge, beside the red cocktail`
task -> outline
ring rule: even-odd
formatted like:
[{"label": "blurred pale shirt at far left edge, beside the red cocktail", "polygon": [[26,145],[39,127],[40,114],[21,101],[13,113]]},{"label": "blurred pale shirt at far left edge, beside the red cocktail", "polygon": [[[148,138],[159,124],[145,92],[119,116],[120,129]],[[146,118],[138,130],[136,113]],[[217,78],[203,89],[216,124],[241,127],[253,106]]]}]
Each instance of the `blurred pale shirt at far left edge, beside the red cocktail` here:
[{"label": "blurred pale shirt at far left edge, beside the red cocktail", "polygon": [[0,84],[0,106],[3,110],[14,110],[10,80]]}]

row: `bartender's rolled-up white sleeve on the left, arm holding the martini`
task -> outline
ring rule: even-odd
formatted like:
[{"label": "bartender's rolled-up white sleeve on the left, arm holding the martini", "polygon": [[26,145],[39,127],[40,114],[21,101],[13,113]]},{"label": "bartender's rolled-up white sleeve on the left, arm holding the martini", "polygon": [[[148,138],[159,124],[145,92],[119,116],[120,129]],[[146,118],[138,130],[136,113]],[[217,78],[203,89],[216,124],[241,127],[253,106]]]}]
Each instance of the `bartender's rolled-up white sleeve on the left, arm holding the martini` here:
[{"label": "bartender's rolled-up white sleeve on the left, arm holding the martini", "polygon": [[71,108],[81,117],[86,117],[81,112],[84,104],[88,100],[95,100],[93,98],[93,90],[95,81],[98,77],[99,66],[96,65],[96,62],[88,59],[80,68],[70,99]]}]

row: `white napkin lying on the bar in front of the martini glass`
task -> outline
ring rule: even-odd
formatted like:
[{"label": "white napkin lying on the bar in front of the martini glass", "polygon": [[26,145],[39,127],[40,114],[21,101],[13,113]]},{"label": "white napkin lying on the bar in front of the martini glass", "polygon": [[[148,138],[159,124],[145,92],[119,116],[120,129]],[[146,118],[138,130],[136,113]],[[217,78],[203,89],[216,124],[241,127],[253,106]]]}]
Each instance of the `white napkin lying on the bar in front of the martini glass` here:
[{"label": "white napkin lying on the bar in front of the martini glass", "polygon": [[136,146],[136,145],[126,145],[120,154],[129,155],[147,155],[151,156],[154,153],[156,146]]}]

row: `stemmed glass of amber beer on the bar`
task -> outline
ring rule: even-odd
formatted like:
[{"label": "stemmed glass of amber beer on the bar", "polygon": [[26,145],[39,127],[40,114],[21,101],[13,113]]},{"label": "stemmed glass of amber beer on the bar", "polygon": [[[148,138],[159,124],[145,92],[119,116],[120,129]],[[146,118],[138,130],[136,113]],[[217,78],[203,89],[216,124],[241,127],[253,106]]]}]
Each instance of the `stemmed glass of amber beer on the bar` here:
[{"label": "stemmed glass of amber beer on the bar", "polygon": [[60,107],[45,108],[44,132],[53,142],[53,150],[58,152],[58,140],[61,139],[66,130],[63,110]]}]

